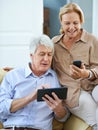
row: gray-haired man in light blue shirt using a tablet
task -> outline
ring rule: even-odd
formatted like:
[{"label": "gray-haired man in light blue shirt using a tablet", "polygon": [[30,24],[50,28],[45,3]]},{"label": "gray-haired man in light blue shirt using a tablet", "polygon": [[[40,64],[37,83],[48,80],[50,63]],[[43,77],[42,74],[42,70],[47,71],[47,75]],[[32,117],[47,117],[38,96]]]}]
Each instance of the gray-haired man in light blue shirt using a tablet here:
[{"label": "gray-haired man in light blue shirt using a tablet", "polygon": [[61,87],[50,68],[54,46],[42,35],[30,44],[31,63],[6,74],[0,87],[0,121],[4,128],[15,130],[52,130],[52,119],[66,120],[68,112],[62,100],[52,93],[37,102],[39,88]]}]

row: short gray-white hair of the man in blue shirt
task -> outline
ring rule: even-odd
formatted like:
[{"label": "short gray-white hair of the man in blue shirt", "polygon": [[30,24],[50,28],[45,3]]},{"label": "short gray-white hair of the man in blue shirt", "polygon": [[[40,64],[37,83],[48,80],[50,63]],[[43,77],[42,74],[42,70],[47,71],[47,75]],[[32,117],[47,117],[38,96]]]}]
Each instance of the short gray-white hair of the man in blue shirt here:
[{"label": "short gray-white hair of the man in blue shirt", "polygon": [[33,40],[30,43],[30,46],[29,46],[30,53],[34,54],[39,45],[44,45],[45,47],[50,47],[53,50],[53,53],[54,53],[54,43],[49,38],[49,36],[42,34],[39,37],[33,38]]}]

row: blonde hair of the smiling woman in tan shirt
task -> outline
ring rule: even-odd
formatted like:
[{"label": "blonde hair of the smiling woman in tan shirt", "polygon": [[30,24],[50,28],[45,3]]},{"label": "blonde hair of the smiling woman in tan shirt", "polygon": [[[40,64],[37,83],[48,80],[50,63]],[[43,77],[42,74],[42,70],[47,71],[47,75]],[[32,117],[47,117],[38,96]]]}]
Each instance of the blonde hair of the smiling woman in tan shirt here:
[{"label": "blonde hair of the smiling woman in tan shirt", "polygon": [[[60,8],[59,19],[62,21],[62,15],[66,13],[76,12],[80,17],[80,22],[84,23],[84,14],[82,9],[76,3],[69,3]],[[63,29],[60,29],[60,33],[64,33]]]}]

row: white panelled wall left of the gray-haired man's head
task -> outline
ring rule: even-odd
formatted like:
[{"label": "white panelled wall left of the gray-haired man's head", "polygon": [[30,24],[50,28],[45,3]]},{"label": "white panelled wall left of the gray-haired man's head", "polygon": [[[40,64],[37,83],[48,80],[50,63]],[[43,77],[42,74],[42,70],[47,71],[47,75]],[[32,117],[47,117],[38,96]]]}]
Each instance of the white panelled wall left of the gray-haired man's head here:
[{"label": "white panelled wall left of the gray-haired man's head", "polygon": [[43,0],[0,0],[0,67],[29,62],[31,37],[43,33]]}]

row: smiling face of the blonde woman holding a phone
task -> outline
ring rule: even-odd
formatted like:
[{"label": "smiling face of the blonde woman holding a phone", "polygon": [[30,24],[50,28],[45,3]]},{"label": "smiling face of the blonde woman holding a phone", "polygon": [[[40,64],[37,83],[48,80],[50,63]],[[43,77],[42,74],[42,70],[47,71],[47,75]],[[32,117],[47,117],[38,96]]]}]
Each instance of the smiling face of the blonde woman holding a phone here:
[{"label": "smiling face of the blonde woman holding a phone", "polygon": [[81,29],[79,14],[76,12],[70,12],[62,15],[61,26],[65,35],[69,38],[76,37]]}]

